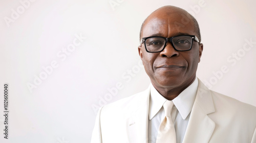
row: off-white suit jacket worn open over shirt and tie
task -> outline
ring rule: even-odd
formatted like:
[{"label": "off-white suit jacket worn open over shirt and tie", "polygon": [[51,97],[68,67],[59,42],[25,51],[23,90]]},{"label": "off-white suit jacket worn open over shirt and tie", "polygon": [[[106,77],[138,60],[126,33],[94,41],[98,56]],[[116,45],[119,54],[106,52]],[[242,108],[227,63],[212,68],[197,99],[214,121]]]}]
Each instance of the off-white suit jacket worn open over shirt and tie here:
[{"label": "off-white suit jacket worn open over shirt and tie", "polygon": [[[149,101],[150,88],[100,108],[91,142],[147,142]],[[256,107],[211,91],[199,80],[184,143],[256,143],[255,128]]]}]

